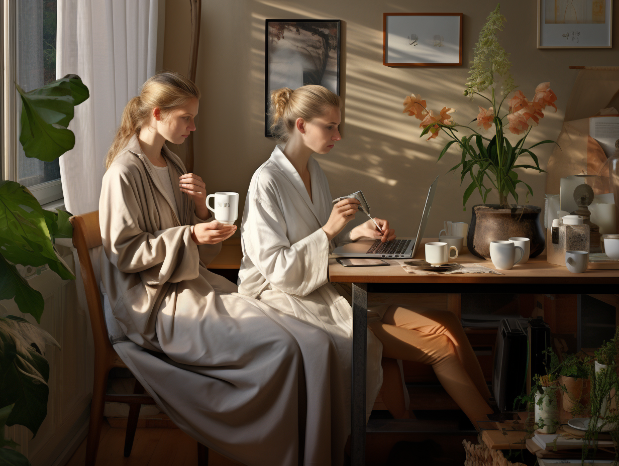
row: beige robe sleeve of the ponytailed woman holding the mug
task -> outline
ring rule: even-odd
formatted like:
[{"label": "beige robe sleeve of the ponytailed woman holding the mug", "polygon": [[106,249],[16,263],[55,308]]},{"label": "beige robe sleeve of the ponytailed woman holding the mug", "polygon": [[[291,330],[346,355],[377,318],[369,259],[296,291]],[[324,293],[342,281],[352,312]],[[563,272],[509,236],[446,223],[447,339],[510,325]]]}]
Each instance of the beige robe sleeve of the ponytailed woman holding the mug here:
[{"label": "beige robe sleeve of the ponytailed woman holding the mug", "polygon": [[198,276],[197,244],[189,225],[149,233],[145,228],[144,200],[139,199],[142,181],[121,164],[110,166],[103,177],[99,223],[103,248],[121,272],[148,270],[147,281],[178,283]]}]

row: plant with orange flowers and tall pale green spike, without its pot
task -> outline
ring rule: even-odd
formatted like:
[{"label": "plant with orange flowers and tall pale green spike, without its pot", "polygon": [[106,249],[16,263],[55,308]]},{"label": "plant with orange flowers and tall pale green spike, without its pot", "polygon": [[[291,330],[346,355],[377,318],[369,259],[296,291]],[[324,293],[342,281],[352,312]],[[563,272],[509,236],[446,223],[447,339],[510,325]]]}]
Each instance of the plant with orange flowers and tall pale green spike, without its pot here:
[{"label": "plant with orange flowers and tall pale green spike, without its pot", "polygon": [[[427,110],[426,101],[420,95],[414,93],[407,96],[404,100],[404,113],[422,120],[419,125],[423,128],[420,137],[428,134],[432,139],[437,137],[441,129],[449,137],[438,160],[447,152],[452,144],[459,145],[462,150],[461,161],[453,166],[449,172],[461,168],[461,183],[470,176],[471,182],[464,191],[462,205],[466,209],[466,203],[471,194],[477,189],[483,202],[486,202],[488,194],[492,189],[496,189],[499,196],[500,205],[509,205],[508,196],[511,194],[516,203],[518,194],[516,186],[524,184],[527,189],[527,197],[533,195],[533,189],[529,184],[518,179],[517,168],[537,170],[540,173],[544,170],[540,168],[537,156],[531,149],[540,144],[554,143],[553,140],[542,140],[537,144],[525,147],[525,142],[533,126],[537,126],[540,118],[543,118],[543,111],[546,106],[552,106],[556,100],[556,95],[550,89],[550,83],[545,82],[535,88],[535,96],[529,101],[521,91],[514,93],[508,100],[508,110],[501,108],[509,93],[516,88],[510,72],[511,62],[508,60],[509,54],[505,52],[498,41],[498,32],[503,30],[505,17],[500,13],[500,4],[495,11],[488,16],[488,22],[482,28],[479,40],[475,44],[474,59],[470,70],[470,77],[464,95],[471,100],[478,95],[491,104],[489,108],[479,107],[480,113],[471,123],[477,121],[480,131],[488,131],[494,125],[494,136],[486,137],[474,128],[457,124],[451,117],[453,108],[443,107],[438,115],[432,110]],[[500,88],[498,88],[500,86]],[[482,92],[490,89],[490,96]],[[507,119],[507,122],[505,121]],[[504,135],[504,124],[508,124],[508,129],[513,134],[524,134],[524,136],[511,144]],[[472,132],[469,136],[456,136],[458,128],[467,129]],[[474,139],[474,142],[473,142]],[[529,155],[535,165],[527,163],[516,164],[521,155]],[[448,172],[448,173],[449,173]],[[486,181],[490,181],[490,187],[486,186]]]}]

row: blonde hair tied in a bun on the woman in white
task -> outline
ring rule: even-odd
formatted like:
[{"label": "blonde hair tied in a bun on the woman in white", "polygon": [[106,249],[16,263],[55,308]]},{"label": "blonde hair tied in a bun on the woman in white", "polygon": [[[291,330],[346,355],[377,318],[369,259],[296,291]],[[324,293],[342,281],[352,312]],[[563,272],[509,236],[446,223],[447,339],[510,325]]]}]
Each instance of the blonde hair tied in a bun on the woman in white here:
[{"label": "blonde hair tied in a bun on the woman in white", "polygon": [[271,92],[271,134],[286,142],[297,118],[305,121],[322,116],[331,108],[339,108],[339,95],[326,87],[307,84],[295,90],[282,87]]}]

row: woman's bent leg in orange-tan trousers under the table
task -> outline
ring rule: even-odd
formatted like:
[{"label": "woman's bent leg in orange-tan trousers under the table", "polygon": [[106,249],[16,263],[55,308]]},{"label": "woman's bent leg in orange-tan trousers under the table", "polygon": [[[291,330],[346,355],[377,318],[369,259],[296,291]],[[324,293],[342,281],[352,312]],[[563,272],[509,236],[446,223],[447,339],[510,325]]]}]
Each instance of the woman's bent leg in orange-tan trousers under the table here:
[{"label": "woman's bent leg in orange-tan trousers under the table", "polygon": [[477,421],[487,420],[487,415],[493,412],[462,365],[456,345],[448,335],[381,321],[371,324],[371,329],[383,342],[384,357],[430,364],[443,387],[476,427]]}]

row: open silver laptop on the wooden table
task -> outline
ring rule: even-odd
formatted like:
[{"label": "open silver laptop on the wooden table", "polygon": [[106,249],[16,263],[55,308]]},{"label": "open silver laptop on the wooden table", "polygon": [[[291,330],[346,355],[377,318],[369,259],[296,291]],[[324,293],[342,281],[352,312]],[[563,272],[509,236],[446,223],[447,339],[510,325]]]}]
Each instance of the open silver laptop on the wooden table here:
[{"label": "open silver laptop on the wooden table", "polygon": [[335,257],[386,257],[387,259],[410,259],[414,257],[428,223],[437,183],[438,176],[428,190],[428,197],[426,197],[426,203],[423,207],[422,220],[419,222],[419,229],[417,230],[417,238],[392,239],[386,243],[381,243],[380,239],[360,239],[354,243],[348,243],[335,248],[333,255]]}]

